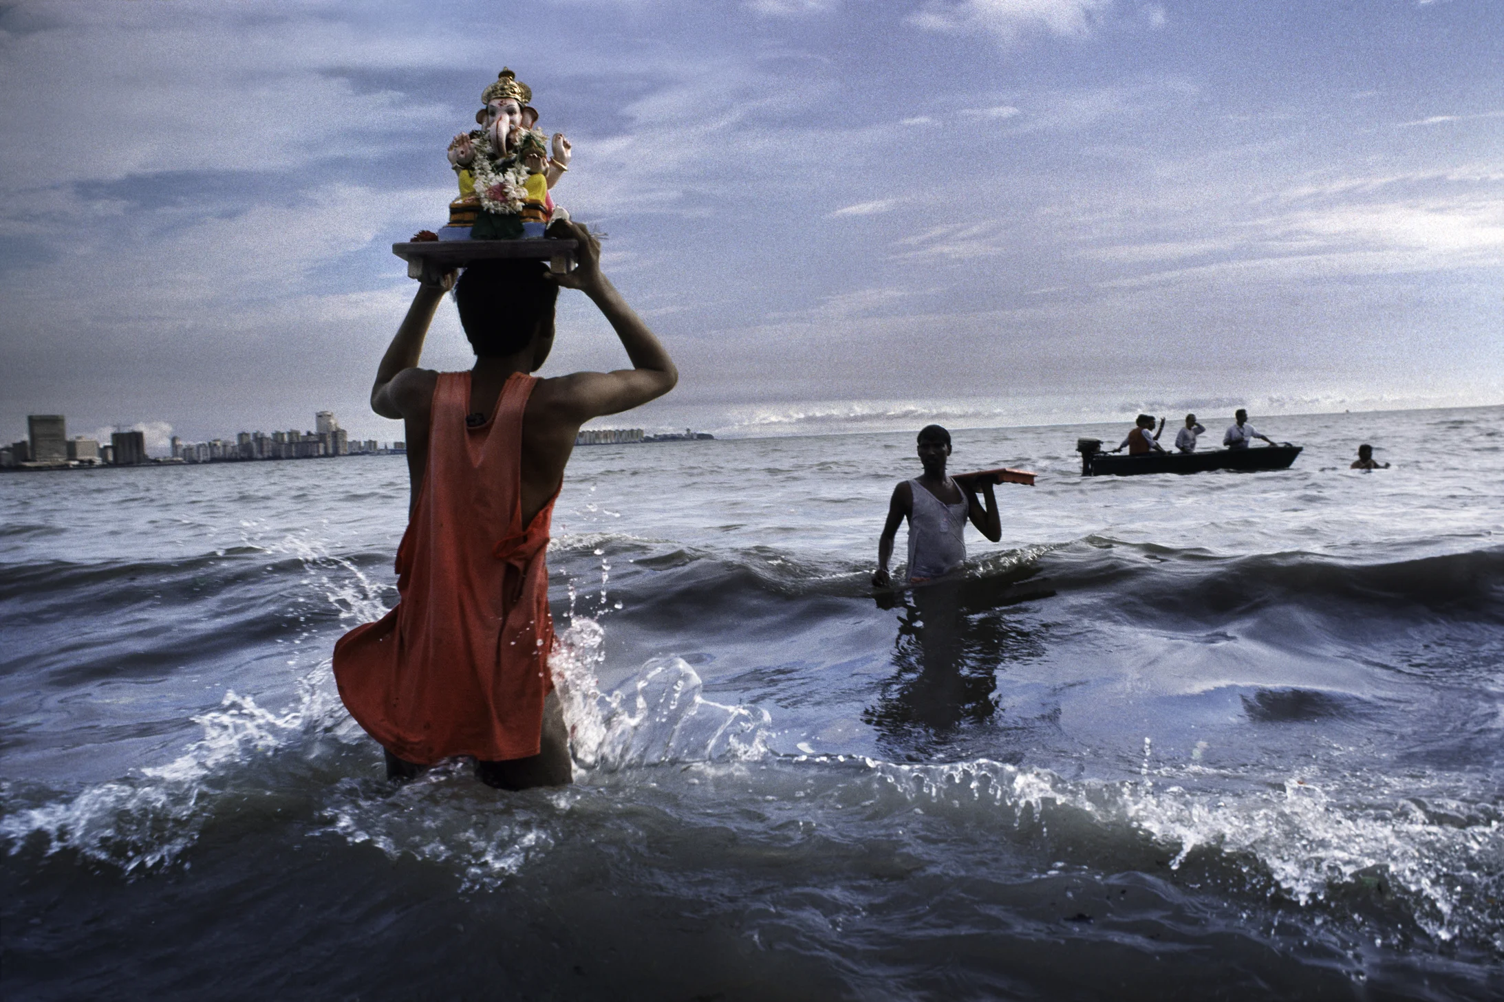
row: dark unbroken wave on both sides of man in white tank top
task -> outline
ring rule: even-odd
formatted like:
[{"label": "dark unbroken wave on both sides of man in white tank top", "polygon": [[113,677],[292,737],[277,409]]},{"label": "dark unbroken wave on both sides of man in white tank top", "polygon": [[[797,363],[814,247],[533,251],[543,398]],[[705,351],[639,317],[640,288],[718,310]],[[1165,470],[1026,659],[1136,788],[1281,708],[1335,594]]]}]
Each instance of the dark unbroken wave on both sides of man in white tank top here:
[{"label": "dark unbroken wave on both sides of man in white tank top", "polygon": [[[597,547],[611,554],[612,544]],[[626,550],[615,550],[620,557]],[[657,548],[618,559],[614,590],[639,616],[683,619],[734,613],[764,599],[878,598],[871,565],[847,557],[796,557],[775,547]],[[957,575],[969,608],[1023,595],[1092,601],[1099,614],[1139,622],[1227,620],[1277,607],[1351,619],[1355,608],[1388,620],[1504,622],[1504,547],[1358,563],[1310,553],[1221,556],[1086,536],[1075,542],[996,550]],[[902,590],[902,589],[899,589]]]}]

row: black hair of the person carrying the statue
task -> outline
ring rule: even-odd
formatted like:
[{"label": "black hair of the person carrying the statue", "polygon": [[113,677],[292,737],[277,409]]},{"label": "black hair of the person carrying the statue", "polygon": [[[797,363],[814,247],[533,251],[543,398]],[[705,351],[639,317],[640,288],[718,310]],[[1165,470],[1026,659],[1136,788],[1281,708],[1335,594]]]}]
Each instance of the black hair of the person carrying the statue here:
[{"label": "black hair of the person carrying the statue", "polygon": [[477,358],[516,355],[553,327],[559,287],[543,278],[547,266],[532,260],[475,261],[454,285],[460,326]]}]

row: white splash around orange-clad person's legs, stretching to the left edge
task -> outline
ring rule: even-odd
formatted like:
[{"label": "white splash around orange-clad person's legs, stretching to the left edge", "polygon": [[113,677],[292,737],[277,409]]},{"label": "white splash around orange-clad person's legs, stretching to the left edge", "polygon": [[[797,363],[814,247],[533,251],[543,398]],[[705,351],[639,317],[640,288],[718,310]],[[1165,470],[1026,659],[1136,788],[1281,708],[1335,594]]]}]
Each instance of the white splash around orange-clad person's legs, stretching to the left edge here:
[{"label": "white splash around orange-clad person's legs, stretching to the left edge", "polygon": [[[328,599],[364,601],[341,587]],[[704,699],[684,661],[648,662],[603,693],[594,675],[603,658],[600,626],[578,619],[561,640],[552,665],[582,778],[767,754],[767,714]],[[328,661],[299,681],[298,700],[286,712],[226,693],[220,708],[191,720],[200,738],[167,765],[72,795],[8,786],[0,792],[0,843],[11,855],[27,847],[44,856],[71,852],[125,873],[144,871],[182,862],[206,826],[226,814],[310,801],[316,829],[393,858],[457,865],[462,886],[474,889],[495,886],[546,853],[555,840],[552,810],[579,796],[564,789],[498,798],[469,777],[465,760],[441,763],[403,787],[382,783],[379,748],[340,703]]]}]

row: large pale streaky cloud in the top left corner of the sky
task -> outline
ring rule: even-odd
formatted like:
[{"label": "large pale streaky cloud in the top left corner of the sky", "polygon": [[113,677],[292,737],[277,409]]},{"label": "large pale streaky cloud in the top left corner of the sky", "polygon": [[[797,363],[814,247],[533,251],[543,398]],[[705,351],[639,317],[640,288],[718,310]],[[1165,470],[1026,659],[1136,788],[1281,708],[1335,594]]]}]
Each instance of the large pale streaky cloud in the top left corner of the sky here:
[{"label": "large pale streaky cloud in the top left corner of the sky", "polygon": [[[359,93],[331,66],[451,59],[442,36],[362,33],[358,24],[268,18],[247,33],[202,5],[60,8],[57,23],[0,33],[0,185],[32,189],[171,170],[274,170],[338,147],[371,155],[394,132],[451,110]],[[66,17],[66,21],[63,20]],[[465,45],[456,39],[456,44]]]}]

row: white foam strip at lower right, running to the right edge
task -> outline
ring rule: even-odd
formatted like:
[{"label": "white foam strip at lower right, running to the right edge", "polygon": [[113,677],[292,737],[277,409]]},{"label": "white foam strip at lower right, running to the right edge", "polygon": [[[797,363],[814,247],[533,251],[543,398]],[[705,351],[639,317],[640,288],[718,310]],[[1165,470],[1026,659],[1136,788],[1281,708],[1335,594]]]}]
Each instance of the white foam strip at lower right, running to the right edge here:
[{"label": "white foam strip at lower right, running to the right edge", "polygon": [[1172,856],[1172,871],[1208,853],[1254,885],[1272,882],[1302,907],[1364,877],[1382,879],[1385,892],[1402,898],[1429,936],[1441,942],[1469,937],[1504,951],[1504,930],[1490,906],[1492,883],[1504,871],[1504,823],[1496,811],[1438,819],[1414,801],[1354,805],[1301,778],[1275,790],[1199,793],[1163,787],[1163,780],[1063,780],[1048,769],[985,759],[935,766],[868,759],[866,765],[905,802],[942,811],[1003,808],[1012,826],[1033,820],[1045,834],[1051,826],[1069,828],[1072,838],[1086,832],[1117,841],[1148,837]]}]

